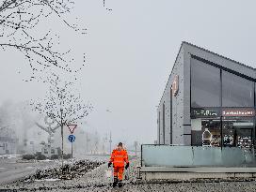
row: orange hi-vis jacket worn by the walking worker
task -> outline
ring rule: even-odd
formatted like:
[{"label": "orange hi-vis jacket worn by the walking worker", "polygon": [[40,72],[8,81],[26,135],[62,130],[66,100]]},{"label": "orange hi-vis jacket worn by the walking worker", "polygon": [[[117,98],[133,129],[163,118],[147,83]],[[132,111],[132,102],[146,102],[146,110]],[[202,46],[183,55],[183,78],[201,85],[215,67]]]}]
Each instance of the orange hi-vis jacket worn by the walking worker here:
[{"label": "orange hi-vis jacket worn by the walking worker", "polygon": [[110,162],[113,163],[114,167],[124,167],[124,162],[129,163],[126,150],[119,151],[118,149],[114,149],[110,157]]}]

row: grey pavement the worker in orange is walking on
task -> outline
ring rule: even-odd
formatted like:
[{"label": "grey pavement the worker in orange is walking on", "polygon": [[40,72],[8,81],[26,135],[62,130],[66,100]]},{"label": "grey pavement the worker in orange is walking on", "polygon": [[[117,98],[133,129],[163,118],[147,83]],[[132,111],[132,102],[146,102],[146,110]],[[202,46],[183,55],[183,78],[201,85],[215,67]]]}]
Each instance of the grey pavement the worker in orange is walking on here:
[{"label": "grey pavement the worker in orange is walking on", "polygon": [[18,191],[167,191],[167,192],[225,192],[225,191],[256,191],[256,181],[244,182],[194,182],[194,183],[142,183],[136,181],[136,160],[131,161],[130,179],[124,181],[121,188],[113,188],[109,178],[105,177],[107,165],[103,164],[95,170],[89,171],[72,180],[51,180],[34,182],[16,182],[9,185],[0,185],[0,189],[17,189]]}]

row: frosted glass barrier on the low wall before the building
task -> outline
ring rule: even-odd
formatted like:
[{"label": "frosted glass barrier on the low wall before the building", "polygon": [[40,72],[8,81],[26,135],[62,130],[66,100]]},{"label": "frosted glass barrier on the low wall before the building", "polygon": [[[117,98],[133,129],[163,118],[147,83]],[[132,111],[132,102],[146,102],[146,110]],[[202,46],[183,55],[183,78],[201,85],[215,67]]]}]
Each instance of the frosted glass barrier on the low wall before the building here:
[{"label": "frosted glass barrier on the low wall before the building", "polygon": [[256,167],[254,149],[141,145],[144,167]]}]

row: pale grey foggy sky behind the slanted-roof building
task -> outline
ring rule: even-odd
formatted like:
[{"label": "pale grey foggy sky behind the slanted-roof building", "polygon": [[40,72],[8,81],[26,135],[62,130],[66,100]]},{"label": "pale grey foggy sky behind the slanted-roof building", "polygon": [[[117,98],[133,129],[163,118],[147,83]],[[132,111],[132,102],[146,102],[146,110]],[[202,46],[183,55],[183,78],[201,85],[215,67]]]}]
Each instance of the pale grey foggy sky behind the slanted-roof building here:
[{"label": "pale grey foggy sky behind the slanted-roof building", "polygon": [[[111,130],[115,142],[156,140],[156,106],[182,41],[256,67],[253,0],[105,2],[111,11],[103,0],[77,0],[71,17],[78,17],[88,34],[59,29],[59,35],[63,48],[87,55],[79,84],[94,111],[86,128]],[[40,29],[60,25],[52,21]],[[45,95],[44,85],[22,81],[31,71],[20,52],[0,55],[0,103]]]}]

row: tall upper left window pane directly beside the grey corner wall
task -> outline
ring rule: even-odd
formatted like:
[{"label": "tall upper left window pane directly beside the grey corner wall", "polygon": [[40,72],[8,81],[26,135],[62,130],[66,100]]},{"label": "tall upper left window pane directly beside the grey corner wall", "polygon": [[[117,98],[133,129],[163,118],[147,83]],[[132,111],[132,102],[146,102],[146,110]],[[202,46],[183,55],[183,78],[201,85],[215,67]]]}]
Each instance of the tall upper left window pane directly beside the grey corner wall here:
[{"label": "tall upper left window pane directly beside the grey corner wall", "polygon": [[220,69],[191,58],[191,106],[220,107]]}]

